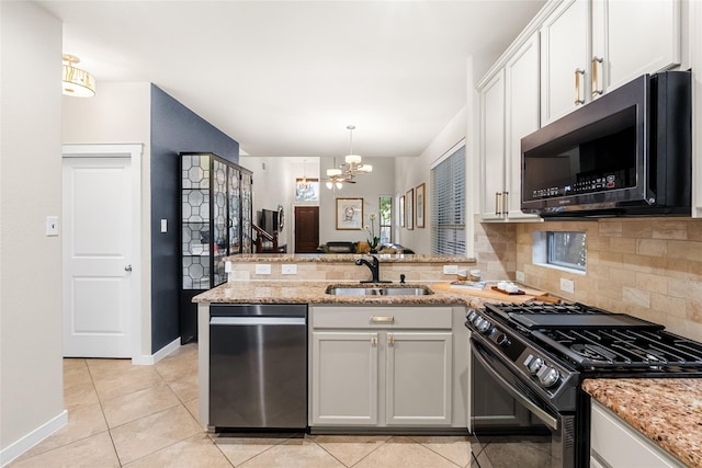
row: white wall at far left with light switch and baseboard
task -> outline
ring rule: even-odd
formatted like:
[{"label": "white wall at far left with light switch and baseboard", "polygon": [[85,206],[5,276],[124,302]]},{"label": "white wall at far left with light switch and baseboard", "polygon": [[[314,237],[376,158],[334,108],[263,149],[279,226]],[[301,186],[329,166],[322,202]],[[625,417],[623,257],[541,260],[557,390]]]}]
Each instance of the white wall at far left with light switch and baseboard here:
[{"label": "white wall at far left with light switch and baseboard", "polygon": [[[0,465],[66,423],[61,361],[61,23],[1,2]],[[59,224],[60,226],[60,224]]]}]

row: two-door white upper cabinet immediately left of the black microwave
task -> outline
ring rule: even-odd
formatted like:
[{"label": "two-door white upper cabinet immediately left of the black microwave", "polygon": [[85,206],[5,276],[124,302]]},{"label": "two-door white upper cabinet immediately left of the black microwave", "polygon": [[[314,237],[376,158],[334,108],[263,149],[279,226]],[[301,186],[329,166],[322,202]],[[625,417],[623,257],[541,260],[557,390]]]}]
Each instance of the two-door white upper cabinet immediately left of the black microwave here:
[{"label": "two-door white upper cabinet immediately left of the black microwave", "polygon": [[539,128],[539,35],[480,88],[483,220],[537,219],[521,210],[521,139]]}]

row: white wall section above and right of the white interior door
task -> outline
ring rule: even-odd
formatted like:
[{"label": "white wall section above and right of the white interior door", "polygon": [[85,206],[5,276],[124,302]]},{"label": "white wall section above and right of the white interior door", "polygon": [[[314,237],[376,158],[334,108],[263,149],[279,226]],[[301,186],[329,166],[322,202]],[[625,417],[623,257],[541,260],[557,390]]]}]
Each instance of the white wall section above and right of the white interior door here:
[{"label": "white wall section above and right of the white interior door", "polygon": [[[151,264],[151,84],[98,82],[94,98],[64,96],[64,144],[143,144],[141,265]],[[141,355],[151,354],[151,269],[141,271]]]}]

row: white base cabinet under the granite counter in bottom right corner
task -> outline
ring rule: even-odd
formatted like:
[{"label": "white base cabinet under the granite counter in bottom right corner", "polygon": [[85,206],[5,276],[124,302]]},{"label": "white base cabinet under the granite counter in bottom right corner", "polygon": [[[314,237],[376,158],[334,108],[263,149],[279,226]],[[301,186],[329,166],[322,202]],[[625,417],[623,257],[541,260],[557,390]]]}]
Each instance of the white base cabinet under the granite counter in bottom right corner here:
[{"label": "white base cabinet under the granite counter in bottom right corner", "polygon": [[684,465],[601,403],[592,400],[590,466],[681,468]]}]

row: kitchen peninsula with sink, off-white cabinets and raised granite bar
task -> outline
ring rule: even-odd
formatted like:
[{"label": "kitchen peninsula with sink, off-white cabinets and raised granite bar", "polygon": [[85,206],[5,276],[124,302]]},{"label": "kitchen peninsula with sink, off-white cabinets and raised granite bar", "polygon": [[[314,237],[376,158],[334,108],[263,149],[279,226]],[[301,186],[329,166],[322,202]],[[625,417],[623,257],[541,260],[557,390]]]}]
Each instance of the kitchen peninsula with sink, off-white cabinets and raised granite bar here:
[{"label": "kitchen peninsula with sink, off-white cabinets and raised granite bar", "polygon": [[[465,306],[475,296],[435,292],[432,285],[448,285],[455,279],[457,271],[474,267],[475,262],[462,256],[383,254],[377,258],[380,266],[375,274],[370,271],[373,262],[369,262],[369,267],[355,263],[361,259],[370,260],[369,255],[228,258],[231,262],[227,266],[229,282],[194,299],[200,329],[201,423],[212,426],[210,349],[214,346],[211,342],[214,335],[211,334],[211,306],[222,310],[223,306],[254,305],[268,307],[274,315],[281,305],[305,305],[309,330],[305,342],[309,350],[312,431],[367,432],[392,427],[393,431],[465,433],[468,332],[463,322]],[[382,286],[392,288],[395,294],[410,289],[428,294],[359,296],[327,293],[335,286],[341,289],[359,287],[360,281],[369,281],[375,275],[387,282]],[[373,286],[377,285],[363,286],[375,289]],[[344,350],[341,353],[344,357],[337,353],[340,349]],[[338,359],[347,357],[350,361],[339,364]],[[392,372],[389,362],[394,363]],[[337,376],[338,373],[343,374]],[[432,383],[429,386],[415,385],[414,379],[407,378],[426,373],[435,377],[428,379]],[[340,384],[344,378],[346,384]],[[349,385],[361,390],[354,391]],[[364,401],[366,397],[372,401]]]}]

